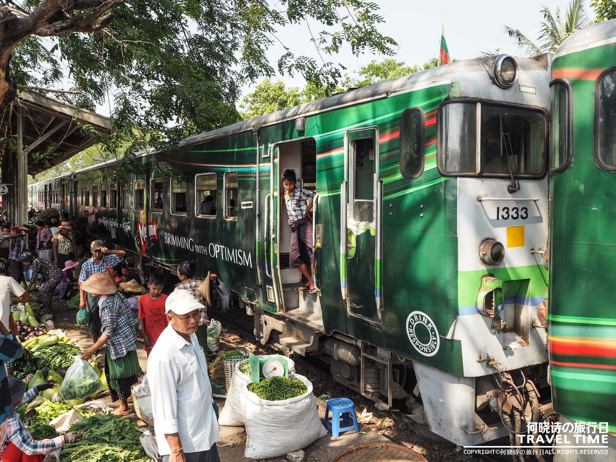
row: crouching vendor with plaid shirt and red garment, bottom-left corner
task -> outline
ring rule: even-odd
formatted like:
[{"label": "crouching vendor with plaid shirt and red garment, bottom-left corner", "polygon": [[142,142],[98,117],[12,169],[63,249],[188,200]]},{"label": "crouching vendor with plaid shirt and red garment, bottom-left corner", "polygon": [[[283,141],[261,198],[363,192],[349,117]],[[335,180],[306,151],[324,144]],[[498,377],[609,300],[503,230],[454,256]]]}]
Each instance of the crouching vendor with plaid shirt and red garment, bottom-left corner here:
[{"label": "crouching vendor with plaid shirt and red garment, bottom-left corner", "polygon": [[81,432],[68,432],[55,438],[37,441],[29,431],[23,428],[17,408],[30,403],[39,392],[52,388],[54,384],[57,384],[57,381],[50,380],[26,392],[25,382],[9,376],[13,415],[0,426],[0,441],[4,442],[2,443],[2,462],[43,462],[43,454],[52,453],[67,443],[73,444],[81,440]]}]

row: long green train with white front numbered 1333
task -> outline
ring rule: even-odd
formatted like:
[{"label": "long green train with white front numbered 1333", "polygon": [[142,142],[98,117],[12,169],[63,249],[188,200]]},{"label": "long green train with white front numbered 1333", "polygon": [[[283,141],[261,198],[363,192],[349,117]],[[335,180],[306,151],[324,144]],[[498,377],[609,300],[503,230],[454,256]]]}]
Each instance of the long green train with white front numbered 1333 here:
[{"label": "long green train with white front numbered 1333", "polygon": [[[475,445],[550,400],[538,319],[549,78],[546,55],[456,62],[137,155],[171,163],[184,174],[173,180],[155,168],[103,180],[112,161],[31,185],[30,200],[143,267],[195,259],[254,315],[262,344],[316,355],[426,434]],[[318,294],[289,267],[285,168],[317,193]]]}]

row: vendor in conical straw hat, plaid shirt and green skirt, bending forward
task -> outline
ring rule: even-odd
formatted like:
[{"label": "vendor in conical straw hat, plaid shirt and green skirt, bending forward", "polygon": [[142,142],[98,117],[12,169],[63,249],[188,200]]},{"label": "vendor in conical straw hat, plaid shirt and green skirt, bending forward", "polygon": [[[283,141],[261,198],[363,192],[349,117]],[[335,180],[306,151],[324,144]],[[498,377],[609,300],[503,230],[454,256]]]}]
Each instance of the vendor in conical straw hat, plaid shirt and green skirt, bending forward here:
[{"label": "vendor in conical straw hat, plaid shirt and green skirt, bending forward", "polygon": [[105,378],[109,384],[111,400],[120,400],[120,407],[113,413],[130,414],[128,399],[131,386],[143,374],[137,357],[137,334],[133,327],[131,309],[106,272],[94,273],[81,283],[81,288],[98,298],[102,322],[100,338],[81,355],[81,359],[90,359],[96,351],[107,345]]}]

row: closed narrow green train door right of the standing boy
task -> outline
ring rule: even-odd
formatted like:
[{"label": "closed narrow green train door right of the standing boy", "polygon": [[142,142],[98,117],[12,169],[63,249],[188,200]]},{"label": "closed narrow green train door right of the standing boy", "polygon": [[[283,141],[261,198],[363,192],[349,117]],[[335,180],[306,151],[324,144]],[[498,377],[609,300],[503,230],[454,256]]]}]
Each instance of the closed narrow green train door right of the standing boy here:
[{"label": "closed narrow green train door right of the standing boy", "polygon": [[344,139],[341,185],[341,290],[347,314],[381,325],[381,201],[378,128]]}]

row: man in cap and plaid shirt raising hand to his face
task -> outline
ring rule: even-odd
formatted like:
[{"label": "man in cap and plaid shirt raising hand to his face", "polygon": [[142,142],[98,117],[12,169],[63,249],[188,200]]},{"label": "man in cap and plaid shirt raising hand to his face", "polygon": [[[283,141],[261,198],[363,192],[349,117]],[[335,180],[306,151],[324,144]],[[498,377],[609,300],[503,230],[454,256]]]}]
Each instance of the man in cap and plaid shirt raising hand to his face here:
[{"label": "man in cap and plaid shirt raising hand to his face", "polygon": [[94,273],[104,273],[107,269],[111,271],[111,268],[120,263],[120,259],[124,258],[126,252],[108,249],[101,240],[92,241],[90,250],[92,251],[92,258],[86,260],[81,265],[81,272],[79,273],[79,308],[83,309],[87,302],[87,310],[90,313],[88,328],[92,341],[96,343],[100,334],[99,301],[94,294],[84,291],[81,284]]}]

